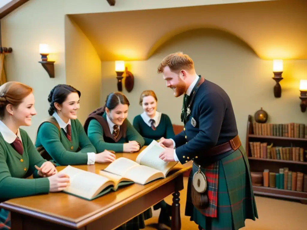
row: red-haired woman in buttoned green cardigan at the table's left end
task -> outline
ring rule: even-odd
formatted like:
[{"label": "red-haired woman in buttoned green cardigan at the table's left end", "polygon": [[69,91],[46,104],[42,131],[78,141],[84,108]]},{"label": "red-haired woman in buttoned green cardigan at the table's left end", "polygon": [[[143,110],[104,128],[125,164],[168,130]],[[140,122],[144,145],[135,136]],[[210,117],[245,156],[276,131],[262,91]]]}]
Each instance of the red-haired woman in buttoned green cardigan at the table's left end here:
[{"label": "red-haired woman in buttoned green cardigan at the table's left end", "polygon": [[[0,202],[64,190],[69,178],[58,174],[35,149],[20,126],[36,114],[33,89],[20,82],[0,86]],[[33,179],[26,179],[33,174]],[[10,229],[10,213],[0,209],[0,229]]]}]

